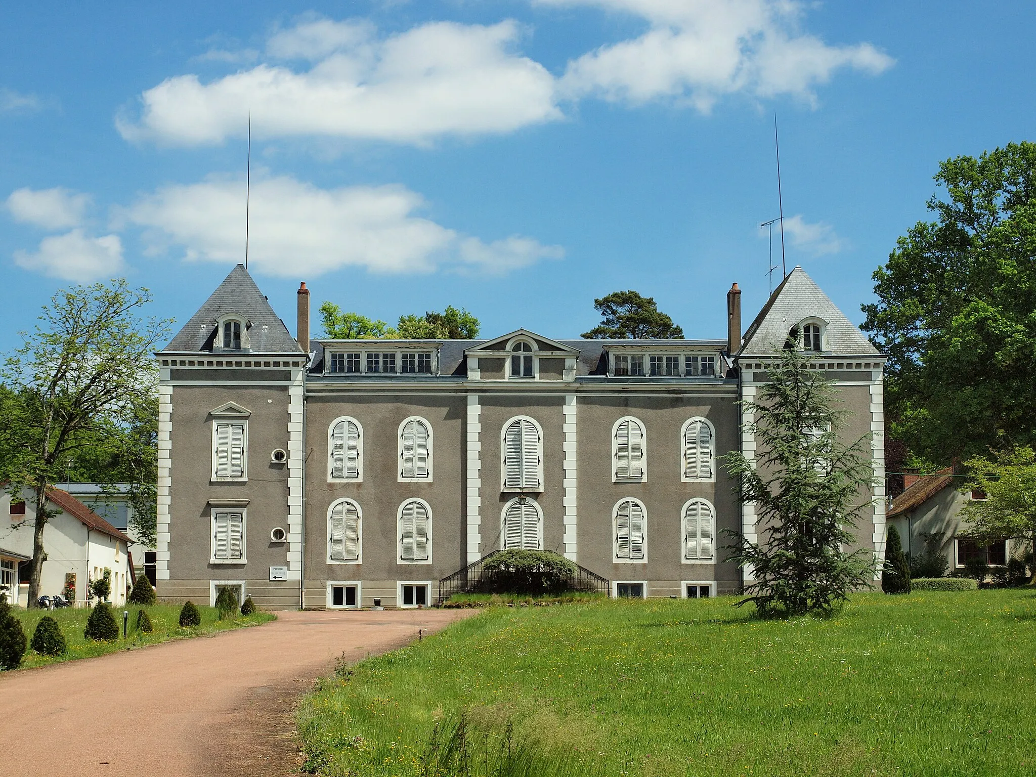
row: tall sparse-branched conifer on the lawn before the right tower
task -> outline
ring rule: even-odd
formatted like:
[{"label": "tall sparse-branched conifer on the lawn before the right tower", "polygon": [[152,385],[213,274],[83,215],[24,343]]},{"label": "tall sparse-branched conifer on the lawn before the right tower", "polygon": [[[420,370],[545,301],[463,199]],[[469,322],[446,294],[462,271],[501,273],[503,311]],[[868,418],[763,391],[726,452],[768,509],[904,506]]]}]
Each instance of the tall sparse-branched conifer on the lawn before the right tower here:
[{"label": "tall sparse-branched conifer on the lawn before the right tower", "polygon": [[858,587],[869,587],[873,555],[859,549],[852,529],[871,509],[873,470],[861,437],[838,439],[845,411],[832,408],[833,394],[823,373],[810,370],[798,351],[798,333],[770,370],[757,399],[742,402],[752,414],[755,461],[741,453],[725,458],[739,481],[743,501],[755,503],[758,541],[727,530],[733,546],[728,560],[750,572],[747,598],[760,614],[829,611]]}]

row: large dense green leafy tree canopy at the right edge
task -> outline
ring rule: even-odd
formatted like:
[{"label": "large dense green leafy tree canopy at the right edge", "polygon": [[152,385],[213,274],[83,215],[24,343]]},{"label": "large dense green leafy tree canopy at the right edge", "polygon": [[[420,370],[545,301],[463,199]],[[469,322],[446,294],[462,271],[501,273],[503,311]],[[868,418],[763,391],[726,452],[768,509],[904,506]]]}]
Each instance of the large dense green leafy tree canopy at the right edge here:
[{"label": "large dense green leafy tree canopy at the right edge", "polygon": [[[873,275],[890,432],[928,461],[1036,443],[1036,144],[957,156]],[[962,431],[967,430],[967,434]]]}]

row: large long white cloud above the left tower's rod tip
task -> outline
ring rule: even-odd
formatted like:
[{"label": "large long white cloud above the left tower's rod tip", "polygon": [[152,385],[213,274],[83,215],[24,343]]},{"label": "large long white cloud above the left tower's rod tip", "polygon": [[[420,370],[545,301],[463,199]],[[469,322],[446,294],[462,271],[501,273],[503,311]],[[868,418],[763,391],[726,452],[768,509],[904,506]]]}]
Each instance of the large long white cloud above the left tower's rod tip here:
[{"label": "large long white cloud above the left tower's rod tip", "polygon": [[307,20],[275,33],[264,62],[203,84],[170,78],[141,95],[127,140],[172,145],[242,136],[251,109],[259,137],[324,136],[426,143],[448,134],[507,133],[558,118],[553,77],[511,52],[515,22],[436,22],[387,38],[367,24]]}]

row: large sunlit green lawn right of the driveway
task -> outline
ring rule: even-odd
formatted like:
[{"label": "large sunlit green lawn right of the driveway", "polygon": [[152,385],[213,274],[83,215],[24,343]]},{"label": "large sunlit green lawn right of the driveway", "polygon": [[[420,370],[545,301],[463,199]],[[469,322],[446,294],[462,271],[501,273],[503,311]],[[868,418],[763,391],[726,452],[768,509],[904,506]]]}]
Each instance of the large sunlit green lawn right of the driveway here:
[{"label": "large sunlit green lawn right of the driveway", "polygon": [[1036,774],[1031,588],[865,594],[829,621],[735,601],[488,609],[324,681],[298,711],[310,767],[464,774],[422,766],[464,711],[490,731],[472,759],[510,721],[528,777]]}]

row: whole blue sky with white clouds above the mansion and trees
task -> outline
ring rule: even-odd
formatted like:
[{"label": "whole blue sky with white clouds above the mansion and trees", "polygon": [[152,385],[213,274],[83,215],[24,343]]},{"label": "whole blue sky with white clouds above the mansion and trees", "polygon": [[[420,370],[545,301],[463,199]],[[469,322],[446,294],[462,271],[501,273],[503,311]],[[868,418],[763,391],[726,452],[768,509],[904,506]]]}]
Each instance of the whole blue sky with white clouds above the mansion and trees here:
[{"label": "whole blue sky with white clouds above the mansion and trees", "polygon": [[1036,117],[1023,2],[0,13],[0,350],[55,289],[113,276],[185,321],[243,258],[250,107],[250,268],[286,321],[305,280],[390,322],[453,304],[554,337],[616,289],[691,338],[724,335],[733,281],[758,309],[775,111],[788,267],[855,321],[938,163]]}]

